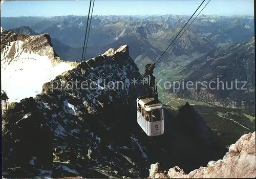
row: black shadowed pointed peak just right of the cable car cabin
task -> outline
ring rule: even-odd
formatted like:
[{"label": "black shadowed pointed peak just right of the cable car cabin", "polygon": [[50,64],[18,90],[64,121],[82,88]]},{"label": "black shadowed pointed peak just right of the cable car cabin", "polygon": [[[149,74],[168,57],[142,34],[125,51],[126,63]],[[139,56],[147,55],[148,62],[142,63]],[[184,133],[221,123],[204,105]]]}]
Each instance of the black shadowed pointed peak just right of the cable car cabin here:
[{"label": "black shadowed pointed peak just right of the cable car cabin", "polygon": [[221,159],[227,152],[225,145],[188,103],[178,110],[176,117],[169,118],[165,121],[166,138],[160,144],[157,143],[162,152],[155,160],[161,161],[164,170],[180,166],[189,172],[207,166],[208,161]]}]

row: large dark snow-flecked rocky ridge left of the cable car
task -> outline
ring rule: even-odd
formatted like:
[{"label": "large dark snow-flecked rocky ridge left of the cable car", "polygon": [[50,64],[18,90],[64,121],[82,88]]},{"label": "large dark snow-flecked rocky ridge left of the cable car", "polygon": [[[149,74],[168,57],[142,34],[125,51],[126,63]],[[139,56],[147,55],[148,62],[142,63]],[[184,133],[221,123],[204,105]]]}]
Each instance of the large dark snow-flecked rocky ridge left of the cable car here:
[{"label": "large dark snow-flecked rocky ridge left of the cable car", "polygon": [[129,104],[146,93],[130,83],[139,77],[122,46],[45,83],[35,98],[12,103],[4,116],[5,177],[145,173],[146,155],[136,130],[129,131],[136,123],[130,114],[136,105]]}]

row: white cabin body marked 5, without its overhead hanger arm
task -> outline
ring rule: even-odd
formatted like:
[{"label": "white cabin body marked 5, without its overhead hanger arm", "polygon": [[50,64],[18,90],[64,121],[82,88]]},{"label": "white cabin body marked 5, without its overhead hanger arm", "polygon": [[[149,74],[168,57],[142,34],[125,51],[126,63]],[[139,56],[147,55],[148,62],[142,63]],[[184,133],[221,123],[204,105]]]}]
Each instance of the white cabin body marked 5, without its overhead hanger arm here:
[{"label": "white cabin body marked 5, without its overhead hanger arm", "polygon": [[[141,99],[137,99],[137,106],[144,106],[144,102]],[[142,107],[143,108],[143,107]],[[144,110],[153,114],[152,120],[147,121],[142,113],[137,108],[137,122],[147,136],[159,136],[164,133],[164,114],[163,114],[163,106],[161,103],[155,105],[145,106]],[[154,113],[159,114],[156,119],[154,119]]]}]

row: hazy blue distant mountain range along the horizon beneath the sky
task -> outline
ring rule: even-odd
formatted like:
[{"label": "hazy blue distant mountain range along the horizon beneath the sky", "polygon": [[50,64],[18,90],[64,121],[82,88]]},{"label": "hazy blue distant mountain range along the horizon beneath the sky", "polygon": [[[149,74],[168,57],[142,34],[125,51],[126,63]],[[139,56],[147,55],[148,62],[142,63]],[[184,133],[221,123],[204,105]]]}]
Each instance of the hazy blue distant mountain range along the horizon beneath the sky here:
[{"label": "hazy blue distant mountain range along the horizon beneath the sky", "polygon": [[[189,16],[179,15],[93,16],[86,57],[94,57],[109,48],[117,48],[120,44],[129,44],[131,57],[137,64],[144,66],[146,61],[158,59],[188,18]],[[56,52],[63,60],[79,61],[86,20],[85,16],[73,15],[2,17],[1,26],[4,29],[28,26],[36,33],[49,33]],[[253,17],[201,15],[175,43],[165,60],[179,62],[187,58],[196,59],[216,49],[219,43],[248,41],[253,37],[253,29]],[[14,31],[27,33],[22,29]],[[55,39],[58,41],[55,42]]]}]

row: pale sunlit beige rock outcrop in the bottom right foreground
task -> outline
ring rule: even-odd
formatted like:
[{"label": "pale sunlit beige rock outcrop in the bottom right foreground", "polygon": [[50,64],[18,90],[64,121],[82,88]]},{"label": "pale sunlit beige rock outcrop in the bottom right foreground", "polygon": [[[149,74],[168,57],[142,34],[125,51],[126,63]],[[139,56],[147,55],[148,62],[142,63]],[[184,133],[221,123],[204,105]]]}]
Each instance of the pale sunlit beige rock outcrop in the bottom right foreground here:
[{"label": "pale sunlit beige rock outcrop in the bottom right foreground", "polygon": [[150,178],[240,178],[256,177],[255,131],[243,135],[229,147],[222,160],[210,161],[207,167],[184,173],[178,166],[161,171],[159,163],[152,164]]}]

